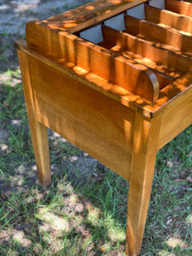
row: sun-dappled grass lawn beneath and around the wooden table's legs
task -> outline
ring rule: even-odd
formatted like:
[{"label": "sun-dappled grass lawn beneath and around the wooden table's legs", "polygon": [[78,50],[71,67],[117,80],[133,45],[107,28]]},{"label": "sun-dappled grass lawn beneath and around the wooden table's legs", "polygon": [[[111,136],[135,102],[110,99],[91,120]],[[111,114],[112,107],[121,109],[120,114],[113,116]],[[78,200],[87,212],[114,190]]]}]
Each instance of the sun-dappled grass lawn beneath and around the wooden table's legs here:
[{"label": "sun-dappled grass lawn beneath and around the wooden table's legs", "polygon": [[[49,131],[37,180],[20,71],[0,74],[0,255],[124,255],[128,183]],[[141,255],[192,255],[192,126],[158,152]]]}]

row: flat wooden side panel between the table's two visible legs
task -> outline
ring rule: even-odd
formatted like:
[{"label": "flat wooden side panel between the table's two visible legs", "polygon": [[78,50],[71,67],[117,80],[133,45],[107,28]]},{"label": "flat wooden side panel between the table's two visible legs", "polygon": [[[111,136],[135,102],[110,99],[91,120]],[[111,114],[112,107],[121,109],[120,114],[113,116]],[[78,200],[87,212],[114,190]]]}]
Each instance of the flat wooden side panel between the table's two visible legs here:
[{"label": "flat wooden side panel between the table's two visible legs", "polygon": [[129,180],[135,112],[29,56],[38,120]]}]

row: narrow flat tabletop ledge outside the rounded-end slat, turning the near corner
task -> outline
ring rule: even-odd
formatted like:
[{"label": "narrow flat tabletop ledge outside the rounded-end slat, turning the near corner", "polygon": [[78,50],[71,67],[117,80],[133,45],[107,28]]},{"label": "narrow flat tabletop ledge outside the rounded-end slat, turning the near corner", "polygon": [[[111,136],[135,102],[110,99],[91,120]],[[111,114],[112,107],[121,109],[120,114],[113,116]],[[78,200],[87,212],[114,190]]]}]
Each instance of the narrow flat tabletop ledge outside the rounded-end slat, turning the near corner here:
[{"label": "narrow flat tabletop ledge outside the rounded-end slat, turning the near corner", "polygon": [[192,86],[191,72],[184,74],[181,79],[177,79],[177,83],[168,84],[164,89],[160,90],[160,98],[151,104],[145,99],[132,95],[131,92],[123,90],[115,84],[108,83],[94,74],[87,73],[84,69],[74,66],[65,60],[54,58],[50,55],[45,58],[37,52],[27,48],[26,40],[20,39],[16,43],[16,48],[22,50],[27,55],[32,55],[39,61],[45,63],[48,67],[54,67],[56,71],[66,74],[67,76],[86,84],[93,90],[99,91],[102,95],[106,95],[114,101],[120,102],[127,108],[131,108],[135,112],[142,113],[146,118],[154,118],[159,113],[166,111],[174,102],[183,98],[185,93]]}]

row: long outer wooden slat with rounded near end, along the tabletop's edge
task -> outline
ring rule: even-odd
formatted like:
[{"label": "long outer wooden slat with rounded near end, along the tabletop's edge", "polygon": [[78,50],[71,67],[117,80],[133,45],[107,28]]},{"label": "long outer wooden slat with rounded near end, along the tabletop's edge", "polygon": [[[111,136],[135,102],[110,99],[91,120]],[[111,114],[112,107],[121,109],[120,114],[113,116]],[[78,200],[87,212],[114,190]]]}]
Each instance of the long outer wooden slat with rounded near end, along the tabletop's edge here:
[{"label": "long outer wooden slat with rounded near end, along the tabletop's edge", "polygon": [[[70,61],[150,102],[158,99],[160,86],[154,73],[136,61],[112,53],[108,49],[103,49],[67,32],[61,32],[58,37],[54,31],[38,26],[34,22],[26,26],[26,40],[30,42],[28,46],[41,55],[48,57],[53,55]],[[97,63],[101,64],[97,65]]]}]

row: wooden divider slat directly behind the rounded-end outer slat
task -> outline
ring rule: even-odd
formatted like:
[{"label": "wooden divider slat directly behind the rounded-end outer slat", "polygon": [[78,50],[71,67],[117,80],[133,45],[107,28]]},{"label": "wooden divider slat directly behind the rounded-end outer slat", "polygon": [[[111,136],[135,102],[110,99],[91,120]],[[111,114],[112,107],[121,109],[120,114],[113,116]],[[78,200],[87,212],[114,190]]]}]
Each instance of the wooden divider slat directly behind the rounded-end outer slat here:
[{"label": "wooden divider slat directly behind the rounded-end outer slat", "polygon": [[[102,32],[104,41],[109,44],[107,45],[107,48],[109,46],[114,51],[121,54],[122,51],[128,50],[130,51],[132,58],[139,58],[137,55],[140,55],[143,58],[148,58],[151,60],[151,64],[148,62],[148,67],[152,67],[154,69],[157,68],[158,70],[158,67],[164,66],[162,68],[165,68],[166,66],[167,70],[170,69],[171,72],[175,71],[179,76],[189,70],[191,61],[186,57],[176,55],[169,50],[161,49],[144,41],[143,39],[136,38],[135,36],[125,32],[119,32],[108,26],[102,26]],[[146,63],[143,64],[146,65]],[[170,73],[167,73],[165,69],[163,70],[163,73],[170,75]]]}]

